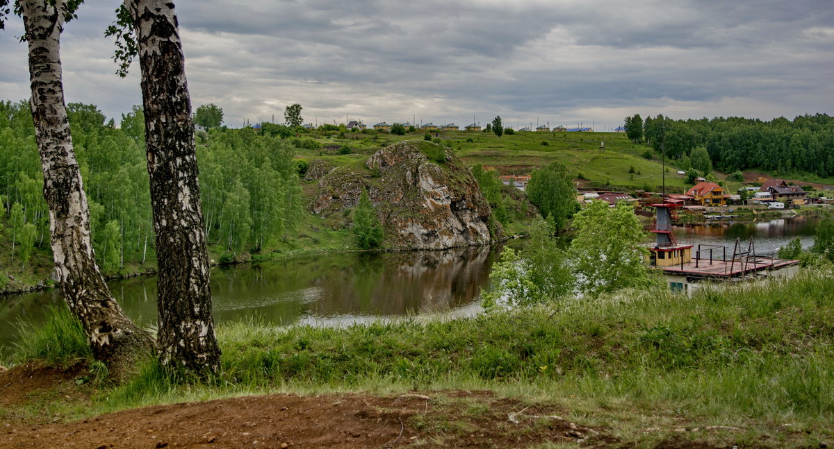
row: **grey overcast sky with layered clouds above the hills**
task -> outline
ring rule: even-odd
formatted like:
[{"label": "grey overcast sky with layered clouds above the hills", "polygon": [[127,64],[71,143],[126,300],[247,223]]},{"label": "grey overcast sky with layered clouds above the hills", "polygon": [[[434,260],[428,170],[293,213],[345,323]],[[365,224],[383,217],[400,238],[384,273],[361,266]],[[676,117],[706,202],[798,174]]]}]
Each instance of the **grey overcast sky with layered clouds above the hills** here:
[{"label": "grey overcast sky with layered clouds above the hills", "polygon": [[[178,0],[194,107],[225,122],[455,122],[616,127],[675,118],[832,114],[831,0]],[[62,40],[68,102],[118,122],[141,104],[88,0]],[[0,32],[0,99],[28,98],[23,25]]]}]

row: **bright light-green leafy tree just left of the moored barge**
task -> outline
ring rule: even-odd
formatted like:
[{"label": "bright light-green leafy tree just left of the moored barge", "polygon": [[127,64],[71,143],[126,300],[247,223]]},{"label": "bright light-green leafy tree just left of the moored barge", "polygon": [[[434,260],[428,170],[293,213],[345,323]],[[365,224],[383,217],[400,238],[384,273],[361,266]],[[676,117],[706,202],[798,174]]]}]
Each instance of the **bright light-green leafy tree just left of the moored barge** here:
[{"label": "bright light-green leafy tree just left of the moored barge", "polygon": [[596,296],[651,284],[648,250],[641,245],[646,232],[631,205],[591,202],[576,214],[573,226],[569,253],[580,292]]}]

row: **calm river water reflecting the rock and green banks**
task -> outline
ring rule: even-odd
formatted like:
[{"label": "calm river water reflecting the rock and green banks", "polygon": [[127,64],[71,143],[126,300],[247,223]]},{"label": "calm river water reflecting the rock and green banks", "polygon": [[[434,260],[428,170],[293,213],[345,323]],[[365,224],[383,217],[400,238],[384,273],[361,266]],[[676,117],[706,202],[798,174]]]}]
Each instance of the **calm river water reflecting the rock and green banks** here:
[{"label": "calm river water reflecting the rock and green banks", "polygon": [[[736,237],[746,249],[769,256],[793,237],[803,247],[813,242],[816,218],[766,222],[706,223],[676,227],[679,242],[726,245]],[[514,246],[515,243],[514,242]],[[276,326],[294,323],[345,325],[378,317],[480,311],[478,294],[489,287],[489,273],[500,247],[470,247],[440,252],[329,254],[285,261],[214,267],[212,293],[216,322],[258,318]],[[108,282],[128,317],[146,326],[156,320],[155,276]],[[59,304],[58,289],[0,297],[0,352],[8,351],[18,321],[43,322],[49,305]]]}]

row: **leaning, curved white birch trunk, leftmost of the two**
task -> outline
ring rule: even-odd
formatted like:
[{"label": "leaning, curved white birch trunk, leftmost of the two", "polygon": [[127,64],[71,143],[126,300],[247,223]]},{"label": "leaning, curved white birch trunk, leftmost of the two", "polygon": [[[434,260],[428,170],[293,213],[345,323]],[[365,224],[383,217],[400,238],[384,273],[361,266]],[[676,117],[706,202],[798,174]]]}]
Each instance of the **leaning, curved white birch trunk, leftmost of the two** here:
[{"label": "leaning, curved white birch trunk, leftmost of the two", "polygon": [[29,47],[32,117],[49,206],[55,269],[64,300],[87,334],[93,356],[119,379],[153,339],[125,317],[108,290],[90,241],[87,197],[73,151],[63,98],[59,39],[66,1],[22,0]]}]

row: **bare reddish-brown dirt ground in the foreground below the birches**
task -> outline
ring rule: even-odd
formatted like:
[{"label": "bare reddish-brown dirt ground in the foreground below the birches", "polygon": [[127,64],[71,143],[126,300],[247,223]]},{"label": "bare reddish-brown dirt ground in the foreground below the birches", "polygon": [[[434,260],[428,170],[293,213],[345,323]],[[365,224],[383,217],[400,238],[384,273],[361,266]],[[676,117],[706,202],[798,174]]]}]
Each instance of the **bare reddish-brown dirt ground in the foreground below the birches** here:
[{"label": "bare reddish-brown dirt ground in the foreground below the birches", "polygon": [[[78,370],[18,367],[0,373],[0,447],[85,449],[160,447],[526,447],[545,442],[615,443],[567,422],[556,405],[530,405],[491,392],[427,395],[269,395],[145,407],[78,422],[22,407],[43,395],[84,401]],[[74,396],[73,396],[74,395]],[[63,399],[62,399],[63,398]],[[605,445],[604,447],[608,447]]]}]

